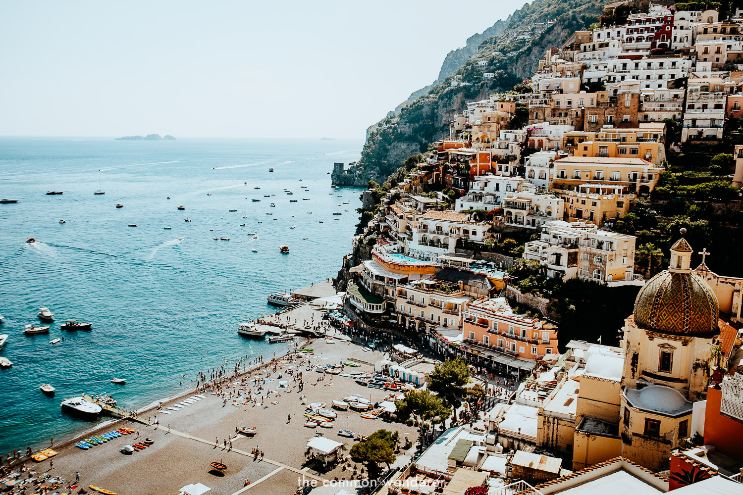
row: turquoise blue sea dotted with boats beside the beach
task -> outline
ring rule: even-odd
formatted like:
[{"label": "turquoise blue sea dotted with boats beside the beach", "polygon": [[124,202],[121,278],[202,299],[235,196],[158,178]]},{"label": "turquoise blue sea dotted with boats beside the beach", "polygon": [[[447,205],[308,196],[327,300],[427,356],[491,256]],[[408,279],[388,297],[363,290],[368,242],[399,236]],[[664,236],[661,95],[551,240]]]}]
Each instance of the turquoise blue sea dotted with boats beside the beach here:
[{"label": "turquoise blue sea dotted with boats beside the beach", "polygon": [[[328,172],[362,145],[0,137],[0,197],[19,200],[0,204],[0,355],[13,361],[0,370],[0,453],[93,427],[62,413],[71,396],[139,409],[192,390],[199,372],[285,353],[237,328],[276,311],[270,293],[336,275],[361,189],[331,188]],[[55,315],[49,334],[24,335],[41,307]],[[68,318],[91,332],[60,330]]]}]

